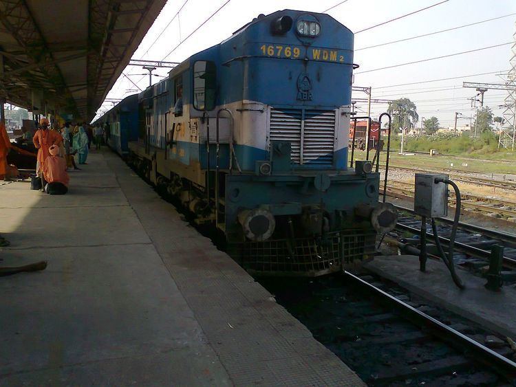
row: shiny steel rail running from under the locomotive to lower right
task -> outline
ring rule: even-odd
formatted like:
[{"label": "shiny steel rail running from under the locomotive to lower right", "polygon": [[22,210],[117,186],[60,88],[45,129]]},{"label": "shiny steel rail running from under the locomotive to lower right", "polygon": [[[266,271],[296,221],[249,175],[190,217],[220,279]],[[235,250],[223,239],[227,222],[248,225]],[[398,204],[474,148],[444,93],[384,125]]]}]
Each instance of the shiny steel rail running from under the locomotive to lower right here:
[{"label": "shiny steel rail running from under the locomotive to lower right", "polygon": [[400,311],[400,313],[402,313],[402,315],[413,324],[428,329],[429,332],[438,339],[451,344],[455,349],[463,351],[464,356],[471,359],[472,362],[479,362],[493,368],[496,373],[502,375],[509,382],[516,378],[515,362],[499,355],[491,349],[488,349],[486,346],[475,342],[475,340],[459,331],[455,331],[455,329],[448,327],[446,324],[443,324],[431,316],[428,316],[426,313],[418,311],[418,309],[398,300],[398,298],[378,289],[378,287],[367,283],[365,280],[354,276],[354,274],[345,271],[344,276],[347,280],[350,280],[354,284],[368,291],[384,305]]}]

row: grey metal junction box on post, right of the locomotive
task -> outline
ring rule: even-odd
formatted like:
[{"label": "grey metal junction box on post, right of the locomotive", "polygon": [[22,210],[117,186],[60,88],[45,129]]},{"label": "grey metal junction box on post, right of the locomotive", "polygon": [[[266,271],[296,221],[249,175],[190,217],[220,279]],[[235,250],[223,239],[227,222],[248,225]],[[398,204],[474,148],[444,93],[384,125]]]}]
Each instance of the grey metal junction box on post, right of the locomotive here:
[{"label": "grey metal junction box on post, right of the locomotive", "polygon": [[448,184],[436,183],[436,179],[448,179],[441,173],[416,173],[414,186],[414,212],[427,217],[446,217],[448,214]]}]

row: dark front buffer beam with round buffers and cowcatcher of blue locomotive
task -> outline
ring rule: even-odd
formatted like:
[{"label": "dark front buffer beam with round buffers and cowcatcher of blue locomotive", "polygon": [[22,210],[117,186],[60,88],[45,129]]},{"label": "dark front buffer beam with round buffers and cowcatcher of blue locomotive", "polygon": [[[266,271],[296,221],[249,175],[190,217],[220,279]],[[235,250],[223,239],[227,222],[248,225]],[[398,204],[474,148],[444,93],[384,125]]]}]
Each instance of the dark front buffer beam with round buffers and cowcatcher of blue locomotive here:
[{"label": "dark front buffer beam with round buffers and cowcatcher of blue locomotive", "polygon": [[228,250],[255,275],[321,276],[358,265],[372,258],[377,230],[396,223],[378,203],[378,183],[378,173],[358,168],[227,175]]}]

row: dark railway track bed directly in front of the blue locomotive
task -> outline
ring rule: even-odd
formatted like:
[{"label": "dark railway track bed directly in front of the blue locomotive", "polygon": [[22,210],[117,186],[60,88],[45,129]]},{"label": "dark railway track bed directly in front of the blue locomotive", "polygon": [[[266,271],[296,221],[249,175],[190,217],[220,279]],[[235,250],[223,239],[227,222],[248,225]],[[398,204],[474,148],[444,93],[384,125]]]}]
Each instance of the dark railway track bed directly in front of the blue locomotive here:
[{"label": "dark railway track bed directly in front of the blue locomotive", "polygon": [[[506,386],[516,377],[505,338],[374,276],[264,286],[370,386]],[[492,338],[498,348],[484,345]]]}]

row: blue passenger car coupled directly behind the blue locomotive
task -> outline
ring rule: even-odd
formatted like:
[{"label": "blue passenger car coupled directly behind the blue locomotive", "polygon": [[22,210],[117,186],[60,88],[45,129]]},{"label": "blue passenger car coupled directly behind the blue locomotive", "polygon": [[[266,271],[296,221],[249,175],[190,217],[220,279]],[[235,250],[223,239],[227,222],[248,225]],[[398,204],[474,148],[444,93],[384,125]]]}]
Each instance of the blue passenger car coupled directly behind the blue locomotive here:
[{"label": "blue passenger car coupled directly behind the blue locomotive", "polygon": [[129,153],[129,142],[138,141],[138,94],[126,97],[100,117],[94,125],[103,127],[107,146],[120,156]]}]

